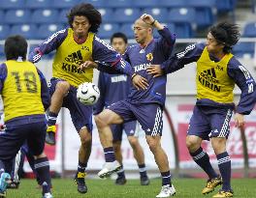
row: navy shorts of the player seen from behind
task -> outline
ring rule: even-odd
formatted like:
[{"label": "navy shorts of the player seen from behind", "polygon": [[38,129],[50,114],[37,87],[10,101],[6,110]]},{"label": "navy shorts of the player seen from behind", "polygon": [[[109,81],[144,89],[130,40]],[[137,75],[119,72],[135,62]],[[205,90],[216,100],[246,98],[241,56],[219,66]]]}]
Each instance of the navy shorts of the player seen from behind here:
[{"label": "navy shorts of the player seen from behind", "polygon": [[[21,118],[21,117],[20,117]],[[17,122],[7,122],[6,128],[0,131],[0,159],[12,160],[21,146],[27,142],[29,151],[33,156],[39,156],[45,149],[47,120],[22,117]],[[41,121],[39,121],[41,120]]]}]

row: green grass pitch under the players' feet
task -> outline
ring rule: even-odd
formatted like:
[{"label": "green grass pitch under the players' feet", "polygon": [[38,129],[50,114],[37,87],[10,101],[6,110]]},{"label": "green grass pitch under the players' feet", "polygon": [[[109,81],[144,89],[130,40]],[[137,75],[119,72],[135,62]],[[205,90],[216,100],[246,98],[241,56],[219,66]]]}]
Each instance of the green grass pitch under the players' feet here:
[{"label": "green grass pitch under the players' feet", "polygon": [[[148,186],[141,186],[139,180],[128,180],[125,185],[115,185],[113,180],[86,180],[88,192],[80,194],[72,179],[52,180],[54,198],[154,198],[160,191],[161,180],[152,179]],[[206,184],[202,179],[174,179],[176,198],[208,198],[212,197],[219,187],[208,195],[202,195],[201,190]],[[233,179],[232,186],[235,198],[255,198],[256,179]],[[18,189],[9,189],[7,198],[37,198],[41,190],[35,180],[21,180]],[[174,197],[174,198],[175,198]]]}]

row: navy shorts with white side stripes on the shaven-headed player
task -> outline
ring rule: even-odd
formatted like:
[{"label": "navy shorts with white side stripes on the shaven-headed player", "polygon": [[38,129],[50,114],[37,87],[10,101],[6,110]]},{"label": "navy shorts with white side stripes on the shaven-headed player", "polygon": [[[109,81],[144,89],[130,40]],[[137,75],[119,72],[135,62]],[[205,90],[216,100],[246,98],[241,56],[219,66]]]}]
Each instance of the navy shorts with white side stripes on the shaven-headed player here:
[{"label": "navy shorts with white side stripes on the shaven-headed player", "polygon": [[120,100],[108,107],[124,120],[124,123],[138,120],[146,135],[162,135],[163,109],[158,103],[132,103]]}]

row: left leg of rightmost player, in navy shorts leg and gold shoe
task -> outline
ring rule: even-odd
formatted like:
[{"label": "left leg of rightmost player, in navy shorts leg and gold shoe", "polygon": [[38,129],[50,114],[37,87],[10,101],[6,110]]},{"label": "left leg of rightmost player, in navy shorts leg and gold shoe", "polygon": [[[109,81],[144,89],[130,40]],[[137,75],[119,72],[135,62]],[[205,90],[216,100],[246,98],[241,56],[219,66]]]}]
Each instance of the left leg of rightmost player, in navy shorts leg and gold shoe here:
[{"label": "left leg of rightmost player, in navy shorts leg and gold shoe", "polygon": [[221,184],[221,178],[212,168],[208,154],[201,147],[203,139],[208,140],[210,126],[207,116],[201,112],[198,106],[194,107],[193,116],[190,119],[189,128],[186,137],[186,146],[190,156],[194,161],[208,174],[208,182],[203,188],[202,193],[207,194]]}]

